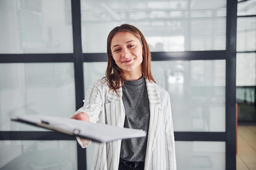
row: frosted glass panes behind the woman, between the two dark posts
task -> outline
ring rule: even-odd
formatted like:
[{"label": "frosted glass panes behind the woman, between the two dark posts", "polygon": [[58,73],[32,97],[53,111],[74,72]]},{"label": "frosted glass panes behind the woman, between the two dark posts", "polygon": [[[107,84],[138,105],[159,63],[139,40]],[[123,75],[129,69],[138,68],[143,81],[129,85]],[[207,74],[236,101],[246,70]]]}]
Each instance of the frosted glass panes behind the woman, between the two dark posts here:
[{"label": "frosted glass panes behind the woman, between the two dark posts", "polygon": [[[223,0],[81,0],[83,53],[106,53],[108,33],[124,23],[141,30],[151,52],[225,50],[226,5]],[[175,132],[225,132],[226,60],[198,57],[205,60],[157,61],[161,56],[155,53],[154,79],[169,92]],[[92,82],[105,76],[106,66],[107,62],[93,59],[83,63],[85,93]],[[197,150],[197,146],[205,148]],[[225,142],[177,141],[176,152],[180,170],[225,169]],[[93,144],[87,149],[87,157],[92,155]]]}]

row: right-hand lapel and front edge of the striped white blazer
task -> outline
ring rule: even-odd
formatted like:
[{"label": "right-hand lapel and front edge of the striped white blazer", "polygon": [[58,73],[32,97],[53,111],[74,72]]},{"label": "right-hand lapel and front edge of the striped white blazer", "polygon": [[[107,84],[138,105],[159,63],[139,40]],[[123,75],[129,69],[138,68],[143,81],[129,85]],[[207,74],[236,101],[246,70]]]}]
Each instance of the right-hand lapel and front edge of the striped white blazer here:
[{"label": "right-hand lapel and front edge of the striped white blazer", "polygon": [[148,169],[148,166],[151,163],[151,155],[153,152],[153,148],[155,146],[155,142],[157,139],[157,132],[159,129],[159,123],[161,122],[160,113],[161,110],[161,100],[159,95],[157,94],[157,89],[154,83],[149,82],[146,79],[146,86],[148,91],[148,100],[149,100],[149,108],[150,108],[150,120],[149,120],[149,128],[148,128],[148,143],[146,150],[146,158],[145,158],[145,169]]}]

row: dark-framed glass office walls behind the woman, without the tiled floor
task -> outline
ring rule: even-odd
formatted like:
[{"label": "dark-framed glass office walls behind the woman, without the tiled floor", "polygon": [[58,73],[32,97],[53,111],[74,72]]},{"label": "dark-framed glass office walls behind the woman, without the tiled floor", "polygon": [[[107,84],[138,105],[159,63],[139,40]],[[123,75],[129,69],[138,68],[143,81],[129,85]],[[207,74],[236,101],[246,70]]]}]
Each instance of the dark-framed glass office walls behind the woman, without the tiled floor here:
[{"label": "dark-framed glass office walls behind the woman, without the tiled floor", "polygon": [[94,143],[11,119],[71,117],[123,23],[171,97],[177,169],[236,169],[237,121],[256,121],[256,0],[0,0],[0,170],[90,169]]}]

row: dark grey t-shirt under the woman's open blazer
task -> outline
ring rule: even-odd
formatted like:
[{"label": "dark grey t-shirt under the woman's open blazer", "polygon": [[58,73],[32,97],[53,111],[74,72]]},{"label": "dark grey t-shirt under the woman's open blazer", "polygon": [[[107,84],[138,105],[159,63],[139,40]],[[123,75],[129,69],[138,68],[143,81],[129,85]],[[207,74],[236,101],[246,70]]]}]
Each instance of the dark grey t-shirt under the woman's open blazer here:
[{"label": "dark grey t-shirt under the woman's open blazer", "polygon": [[[124,109],[126,112],[124,127],[143,129],[148,132],[149,101],[145,78],[124,81],[122,86]],[[145,161],[147,136],[123,139],[120,157],[126,161]]]}]

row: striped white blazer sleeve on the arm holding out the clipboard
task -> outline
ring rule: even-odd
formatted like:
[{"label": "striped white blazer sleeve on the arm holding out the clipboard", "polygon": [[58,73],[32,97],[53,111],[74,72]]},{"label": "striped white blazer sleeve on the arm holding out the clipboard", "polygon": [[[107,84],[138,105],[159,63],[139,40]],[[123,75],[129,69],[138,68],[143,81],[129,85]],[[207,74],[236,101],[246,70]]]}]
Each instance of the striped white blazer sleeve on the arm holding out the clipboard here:
[{"label": "striped white blazer sleeve on the arm holding out the clipboard", "polygon": [[[76,113],[85,112],[90,117],[90,122],[96,123],[99,120],[99,114],[102,110],[102,98],[100,93],[100,83],[91,84],[83,100],[83,106],[76,110]],[[91,140],[76,137],[82,148],[86,148],[91,144]]]}]

